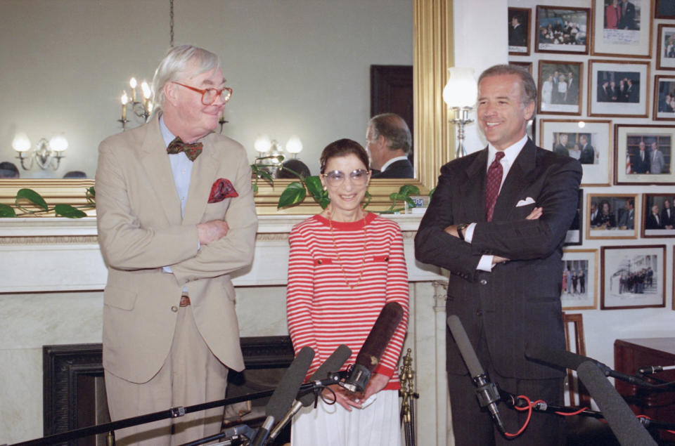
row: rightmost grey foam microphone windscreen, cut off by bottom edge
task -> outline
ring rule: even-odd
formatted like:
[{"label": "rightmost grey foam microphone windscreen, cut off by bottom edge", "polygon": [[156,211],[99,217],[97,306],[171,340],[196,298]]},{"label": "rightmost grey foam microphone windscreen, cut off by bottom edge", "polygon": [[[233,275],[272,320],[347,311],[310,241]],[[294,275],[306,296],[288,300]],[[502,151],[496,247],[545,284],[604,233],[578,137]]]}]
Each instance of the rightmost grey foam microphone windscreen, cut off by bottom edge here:
[{"label": "rightmost grey foam microphone windscreen, cut off by bottom edge", "polygon": [[619,444],[656,446],[657,443],[596,364],[582,362],[577,368],[577,375],[596,400]]}]

